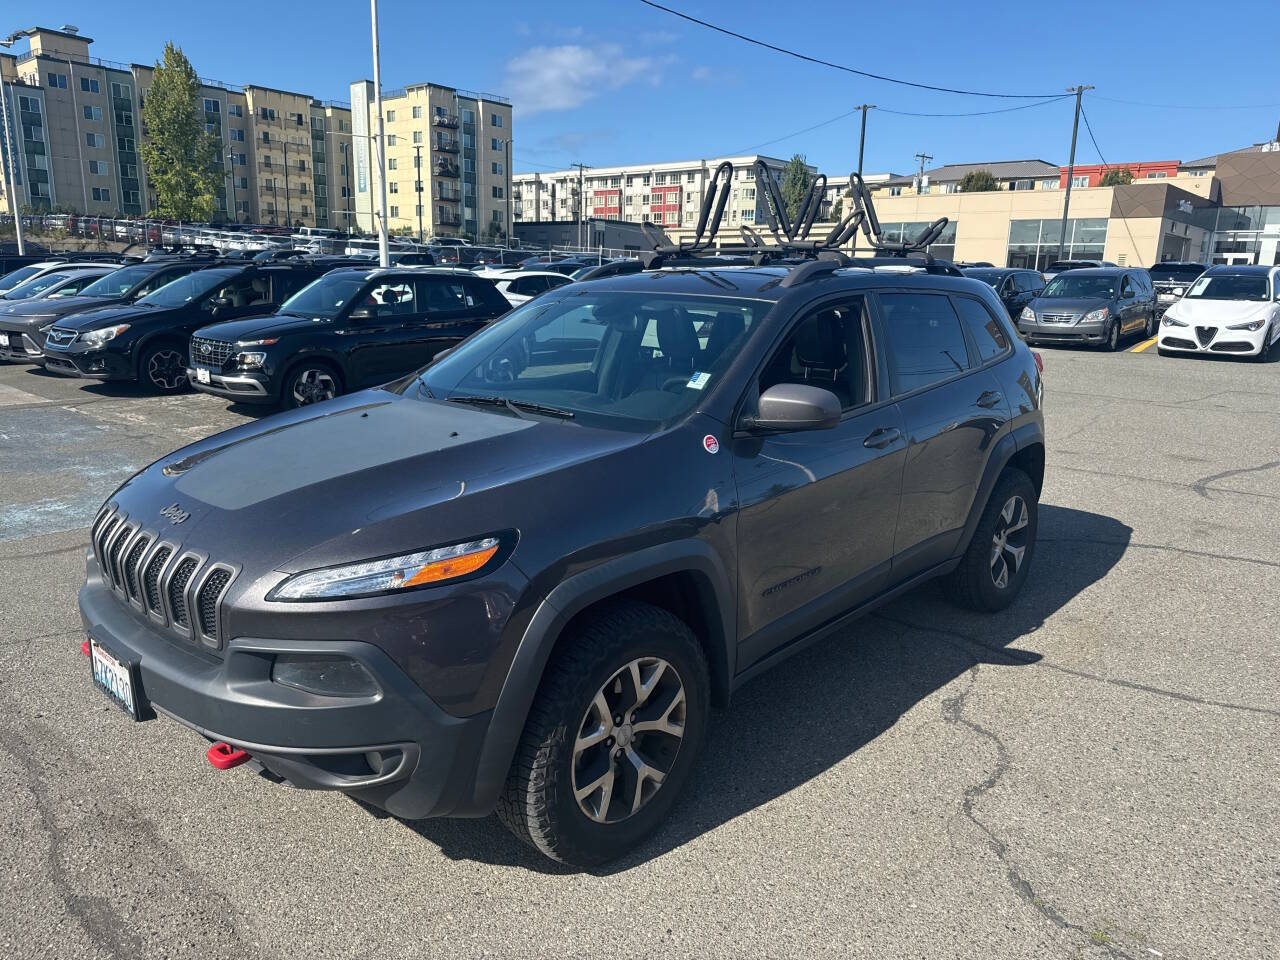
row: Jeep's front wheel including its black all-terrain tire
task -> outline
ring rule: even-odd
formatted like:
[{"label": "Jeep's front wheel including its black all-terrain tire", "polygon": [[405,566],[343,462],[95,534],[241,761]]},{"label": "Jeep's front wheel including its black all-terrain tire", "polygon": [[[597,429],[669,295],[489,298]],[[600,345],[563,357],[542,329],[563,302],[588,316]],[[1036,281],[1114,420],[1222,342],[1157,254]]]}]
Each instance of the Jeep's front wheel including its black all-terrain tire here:
[{"label": "Jeep's front wheel including its black all-terrain tire", "polygon": [[[650,684],[640,707],[628,707]],[[561,640],[547,666],[498,801],[499,819],[559,863],[585,868],[621,856],[653,833],[680,797],[709,709],[707,658],[687,625],[645,603],[602,607]],[[634,716],[641,717],[637,726],[664,730],[635,730]],[[593,785],[599,786],[586,792]]]}]

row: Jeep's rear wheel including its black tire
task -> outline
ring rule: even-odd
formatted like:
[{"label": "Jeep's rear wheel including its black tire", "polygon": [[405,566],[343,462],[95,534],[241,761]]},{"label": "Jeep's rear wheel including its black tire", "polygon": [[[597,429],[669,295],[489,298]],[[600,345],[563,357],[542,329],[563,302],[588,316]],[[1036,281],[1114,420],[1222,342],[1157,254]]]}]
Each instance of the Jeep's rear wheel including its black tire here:
[{"label": "Jeep's rear wheel including its black tire", "polygon": [[960,566],[947,579],[954,603],[995,612],[1014,602],[1036,553],[1038,513],[1030,477],[1015,467],[1006,468],[991,492]]}]

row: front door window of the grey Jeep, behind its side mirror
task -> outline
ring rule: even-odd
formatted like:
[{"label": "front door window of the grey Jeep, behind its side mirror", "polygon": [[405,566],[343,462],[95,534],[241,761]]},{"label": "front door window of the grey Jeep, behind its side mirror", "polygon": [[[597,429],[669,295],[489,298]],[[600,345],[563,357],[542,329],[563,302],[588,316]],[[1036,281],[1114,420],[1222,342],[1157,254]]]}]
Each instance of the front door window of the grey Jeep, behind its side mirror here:
[{"label": "front door window of the grey Jeep, behind its side mirror", "polygon": [[864,315],[865,301],[856,297],[801,319],[762,371],[760,393],[780,383],[803,383],[831,390],[844,410],[867,403],[870,381]]}]

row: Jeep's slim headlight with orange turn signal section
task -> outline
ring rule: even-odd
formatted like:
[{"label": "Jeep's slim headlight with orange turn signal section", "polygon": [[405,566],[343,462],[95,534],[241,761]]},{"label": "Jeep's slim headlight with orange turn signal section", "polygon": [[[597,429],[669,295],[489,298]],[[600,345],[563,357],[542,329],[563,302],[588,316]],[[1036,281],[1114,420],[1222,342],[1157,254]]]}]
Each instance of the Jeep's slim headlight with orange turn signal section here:
[{"label": "Jeep's slim headlight with orange turn signal section", "polygon": [[443,584],[481,570],[500,545],[497,536],[486,536],[399,557],[308,570],[291,576],[266,599],[339,600]]}]

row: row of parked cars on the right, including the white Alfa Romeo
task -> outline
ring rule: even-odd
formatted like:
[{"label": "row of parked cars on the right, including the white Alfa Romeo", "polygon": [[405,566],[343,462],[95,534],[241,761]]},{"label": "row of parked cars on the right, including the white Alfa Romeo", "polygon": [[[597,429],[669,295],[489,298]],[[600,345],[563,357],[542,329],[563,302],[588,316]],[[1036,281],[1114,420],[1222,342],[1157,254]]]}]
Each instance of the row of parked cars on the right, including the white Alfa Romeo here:
[{"label": "row of parked cars on the right, including the white Alfa Romeo", "polygon": [[1044,273],[993,266],[961,273],[996,289],[1028,343],[1114,351],[1140,334],[1157,338],[1161,355],[1266,360],[1280,339],[1280,266],[1059,261]]}]

